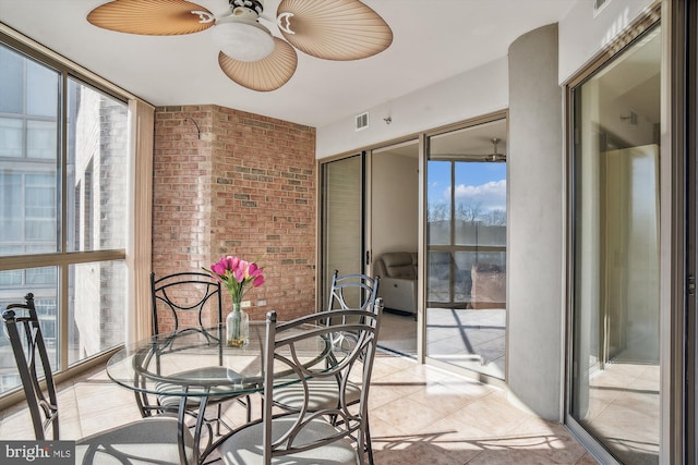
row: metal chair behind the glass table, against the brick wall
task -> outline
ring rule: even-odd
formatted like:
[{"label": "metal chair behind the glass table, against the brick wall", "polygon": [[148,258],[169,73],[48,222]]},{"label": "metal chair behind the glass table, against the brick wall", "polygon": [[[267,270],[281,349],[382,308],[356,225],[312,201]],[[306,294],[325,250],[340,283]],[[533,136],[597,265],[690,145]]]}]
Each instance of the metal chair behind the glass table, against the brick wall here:
[{"label": "metal chair behind the glass table, against the brick wall", "polygon": [[[186,332],[200,333],[203,338],[210,340],[212,343],[218,343],[221,338],[220,325],[222,325],[222,295],[220,282],[204,272],[180,272],[167,274],[156,278],[155,273],[151,273],[151,297],[152,297],[152,316],[153,316],[153,333],[159,334],[164,331],[169,334],[172,343],[172,350],[178,336]],[[159,347],[159,351],[167,350],[167,346]],[[153,356],[157,356],[154,354]],[[198,369],[202,377],[219,376],[226,378],[230,375],[222,359],[222,350],[218,360],[218,366],[204,366]],[[203,388],[202,388],[203,389]],[[180,386],[158,386],[158,391],[167,392],[181,390]],[[136,403],[144,417],[153,414],[161,414],[164,412],[176,413],[179,409],[181,396],[159,394],[155,400],[145,391],[136,392]],[[186,399],[186,407],[189,415],[198,417],[213,432],[212,425],[216,426],[216,435],[220,435],[220,426],[231,430],[231,427],[222,418],[222,403],[236,400],[246,408],[246,420],[252,419],[252,407],[249,395],[240,396],[220,396],[213,395],[209,397],[209,405],[216,405],[215,418],[206,418],[205,413],[197,412],[201,397],[194,395]]]}]

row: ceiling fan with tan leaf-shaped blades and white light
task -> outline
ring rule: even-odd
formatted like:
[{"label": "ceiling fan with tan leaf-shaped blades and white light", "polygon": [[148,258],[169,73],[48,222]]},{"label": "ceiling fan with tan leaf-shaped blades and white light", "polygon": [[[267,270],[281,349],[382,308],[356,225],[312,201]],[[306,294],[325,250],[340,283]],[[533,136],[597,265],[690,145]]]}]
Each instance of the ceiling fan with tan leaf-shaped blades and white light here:
[{"label": "ceiling fan with tan leaf-shaped blades and white light", "polygon": [[[186,0],[113,0],[95,8],[87,21],[119,33],[169,36],[212,29],[218,64],[233,82],[269,91],[286,84],[298,65],[296,49],[315,58],[360,60],[393,42],[393,30],[359,0],[281,0],[275,20],[263,16],[263,0],[228,0],[215,15]],[[284,39],[260,23],[278,26]]]}]

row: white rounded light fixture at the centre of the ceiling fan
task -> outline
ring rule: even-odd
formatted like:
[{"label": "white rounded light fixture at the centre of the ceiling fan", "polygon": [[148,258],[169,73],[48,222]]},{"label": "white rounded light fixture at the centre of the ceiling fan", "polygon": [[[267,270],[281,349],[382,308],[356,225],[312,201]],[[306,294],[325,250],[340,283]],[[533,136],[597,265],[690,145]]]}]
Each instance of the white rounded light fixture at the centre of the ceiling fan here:
[{"label": "white rounded light fixture at the centre of the ceiling fan", "polygon": [[268,57],[274,51],[274,38],[256,17],[256,13],[237,8],[232,15],[218,19],[212,34],[220,51],[239,61],[260,61]]}]

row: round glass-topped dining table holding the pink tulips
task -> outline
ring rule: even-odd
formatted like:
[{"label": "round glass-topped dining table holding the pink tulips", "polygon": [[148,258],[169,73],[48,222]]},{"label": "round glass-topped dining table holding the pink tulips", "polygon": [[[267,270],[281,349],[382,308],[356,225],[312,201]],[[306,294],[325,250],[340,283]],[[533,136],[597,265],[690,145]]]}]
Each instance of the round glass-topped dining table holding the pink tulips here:
[{"label": "round glass-topped dining table holding the pink tulips", "polygon": [[[311,327],[299,327],[298,331],[305,329]],[[155,334],[125,345],[107,363],[108,377],[134,391],[140,404],[147,403],[148,397],[155,400],[167,396],[179,401],[178,441],[182,465],[189,464],[183,431],[184,428],[190,428],[186,419],[190,417],[193,401],[198,401],[195,407],[197,412],[205,412],[209,402],[264,391],[265,322],[250,322],[250,343],[243,347],[228,347],[224,335],[222,325],[205,330],[197,328]],[[308,340],[300,351],[300,356],[308,360],[309,365],[314,365],[326,357],[329,351],[329,341],[317,336]],[[274,379],[275,386],[298,382],[297,378],[276,370]],[[157,403],[149,405],[157,407]],[[145,408],[142,408],[142,412],[144,415],[149,414]],[[193,462],[196,464],[208,455],[212,441],[202,449],[204,415],[195,417],[192,436]],[[210,433],[210,429],[208,431]]]}]

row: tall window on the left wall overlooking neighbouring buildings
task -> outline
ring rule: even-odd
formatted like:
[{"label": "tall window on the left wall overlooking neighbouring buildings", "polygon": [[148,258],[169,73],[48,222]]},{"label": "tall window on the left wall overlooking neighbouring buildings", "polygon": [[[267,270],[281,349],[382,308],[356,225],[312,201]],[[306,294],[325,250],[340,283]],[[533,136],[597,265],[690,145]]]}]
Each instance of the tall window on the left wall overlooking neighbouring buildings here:
[{"label": "tall window on the left wall overlooking neighbouring buildings", "polygon": [[124,101],[0,42],[0,307],[35,295],[57,371],[123,343],[128,129]]}]

